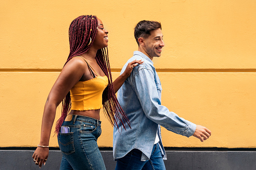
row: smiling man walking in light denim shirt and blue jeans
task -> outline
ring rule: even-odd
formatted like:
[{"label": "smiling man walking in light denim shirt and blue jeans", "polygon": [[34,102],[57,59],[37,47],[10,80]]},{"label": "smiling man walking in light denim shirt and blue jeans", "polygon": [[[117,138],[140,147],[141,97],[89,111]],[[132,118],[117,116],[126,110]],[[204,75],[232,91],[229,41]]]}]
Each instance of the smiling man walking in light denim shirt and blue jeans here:
[{"label": "smiling man walking in light denim shirt and blue jeans", "polygon": [[[161,105],[161,83],[153,66],[153,58],[160,57],[162,47],[161,24],[140,21],[134,29],[138,51],[124,65],[137,59],[144,63],[133,68],[118,91],[118,100],[129,117],[131,129],[114,127],[113,150],[116,169],[165,169],[166,154],[161,141],[160,125],[184,136],[195,136],[201,141],[211,131],[170,112]],[[132,66],[131,66],[132,67]]]}]

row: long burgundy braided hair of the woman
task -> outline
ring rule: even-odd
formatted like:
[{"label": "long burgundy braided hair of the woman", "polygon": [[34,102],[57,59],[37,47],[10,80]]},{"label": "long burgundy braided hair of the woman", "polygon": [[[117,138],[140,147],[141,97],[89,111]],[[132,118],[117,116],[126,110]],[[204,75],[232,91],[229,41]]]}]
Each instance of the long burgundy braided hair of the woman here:
[{"label": "long burgundy braided hair of the woman", "polygon": [[[69,27],[70,52],[66,63],[73,57],[86,53],[92,46],[98,31],[98,19],[96,16],[79,16],[74,19]],[[112,84],[112,76],[108,58],[108,48],[100,49],[96,54],[96,61],[105,75],[108,77],[108,86],[103,91],[103,111],[112,126],[121,125],[126,129],[126,123],[130,127],[130,122],[121,108]],[[66,64],[65,63],[65,64]],[[64,65],[65,66],[65,65]],[[62,100],[61,117],[56,122],[55,133],[58,133],[66,115],[70,112],[71,99],[70,92]],[[121,126],[121,128],[122,128]]]}]

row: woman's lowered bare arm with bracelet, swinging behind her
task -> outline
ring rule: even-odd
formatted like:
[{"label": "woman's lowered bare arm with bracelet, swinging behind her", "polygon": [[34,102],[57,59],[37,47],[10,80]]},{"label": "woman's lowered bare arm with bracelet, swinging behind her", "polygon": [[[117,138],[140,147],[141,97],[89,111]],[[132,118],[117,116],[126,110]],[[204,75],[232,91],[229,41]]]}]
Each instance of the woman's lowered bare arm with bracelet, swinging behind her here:
[{"label": "woman's lowered bare arm with bracelet, swinging behind her", "polygon": [[[49,145],[51,129],[56,115],[56,108],[69,90],[83,76],[85,67],[85,62],[81,59],[72,59],[62,69],[45,103],[39,145]],[[32,157],[34,158],[34,161],[36,160],[36,162],[39,163],[39,167],[41,167],[43,163],[45,164],[45,159],[47,159],[48,154],[48,147],[37,147]]]}]

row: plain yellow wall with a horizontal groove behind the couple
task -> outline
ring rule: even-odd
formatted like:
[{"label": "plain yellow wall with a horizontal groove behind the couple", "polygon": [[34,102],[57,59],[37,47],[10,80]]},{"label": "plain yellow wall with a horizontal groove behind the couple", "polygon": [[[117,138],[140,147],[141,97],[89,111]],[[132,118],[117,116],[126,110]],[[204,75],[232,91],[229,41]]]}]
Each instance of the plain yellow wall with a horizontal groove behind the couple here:
[{"label": "plain yellow wall with a horizontal groove behind the couple", "polygon": [[[44,103],[68,56],[69,24],[87,14],[109,31],[114,77],[137,50],[137,22],[161,22],[165,47],[153,62],[162,104],[212,131],[200,142],[162,128],[165,146],[256,147],[255,8],[254,0],[3,1],[0,147],[39,143]],[[111,147],[112,126],[101,118],[98,144]],[[50,146],[57,146],[56,136]]]}]

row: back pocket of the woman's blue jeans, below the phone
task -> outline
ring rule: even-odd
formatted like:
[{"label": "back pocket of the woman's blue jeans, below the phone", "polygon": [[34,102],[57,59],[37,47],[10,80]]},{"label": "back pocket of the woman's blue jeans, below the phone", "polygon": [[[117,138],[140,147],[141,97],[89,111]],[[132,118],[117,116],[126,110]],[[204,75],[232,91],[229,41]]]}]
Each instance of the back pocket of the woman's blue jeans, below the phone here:
[{"label": "back pocket of the woman's blue jeans, below the phone", "polygon": [[73,132],[59,133],[58,134],[59,149],[64,154],[70,154],[74,152],[74,139]]}]

